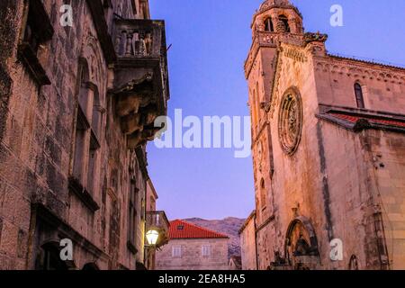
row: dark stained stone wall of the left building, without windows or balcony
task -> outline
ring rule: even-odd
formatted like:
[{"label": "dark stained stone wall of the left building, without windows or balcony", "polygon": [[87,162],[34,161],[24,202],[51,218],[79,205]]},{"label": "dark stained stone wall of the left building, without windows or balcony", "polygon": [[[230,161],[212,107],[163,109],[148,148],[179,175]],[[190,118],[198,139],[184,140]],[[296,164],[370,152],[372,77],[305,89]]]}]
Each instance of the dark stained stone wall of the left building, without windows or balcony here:
[{"label": "dark stained stone wall of the left building, without windows or balcony", "polygon": [[[112,1],[112,10],[117,12],[121,4],[125,17],[135,17],[130,3]],[[1,4],[0,36],[9,41],[0,44],[0,269],[34,267],[41,245],[37,238],[43,236],[37,235],[40,224],[31,215],[36,203],[43,204],[83,238],[74,239],[76,268],[95,263],[103,269],[134,269],[136,261],[143,262],[142,204],[147,175],[141,172],[144,164],[139,164],[135,153],[127,149],[113,99],[107,94],[112,88],[112,70],[103,55],[87,2],[71,1],[73,27],[59,25],[58,8],[62,4],[61,0],[45,2],[55,32],[38,53],[51,82],[41,87],[16,55],[17,37],[24,26],[23,5],[15,1]],[[111,10],[106,17],[111,28]],[[97,135],[101,148],[95,153],[97,165],[91,175],[94,186],[90,193],[100,206],[98,211],[89,210],[68,187],[74,166],[80,58],[89,65],[89,81],[97,87],[105,110]],[[133,158],[132,177],[139,189],[136,256],[127,247],[129,167]]]}]

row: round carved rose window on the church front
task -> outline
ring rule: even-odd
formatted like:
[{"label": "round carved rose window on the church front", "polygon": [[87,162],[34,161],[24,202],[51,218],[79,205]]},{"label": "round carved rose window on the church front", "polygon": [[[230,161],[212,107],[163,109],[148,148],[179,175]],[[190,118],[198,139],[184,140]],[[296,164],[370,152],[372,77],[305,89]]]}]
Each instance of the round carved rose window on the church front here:
[{"label": "round carved rose window on the church front", "polygon": [[298,91],[290,88],[285,92],[278,116],[278,135],[281,147],[293,155],[300,144],[302,133],[302,103]]}]

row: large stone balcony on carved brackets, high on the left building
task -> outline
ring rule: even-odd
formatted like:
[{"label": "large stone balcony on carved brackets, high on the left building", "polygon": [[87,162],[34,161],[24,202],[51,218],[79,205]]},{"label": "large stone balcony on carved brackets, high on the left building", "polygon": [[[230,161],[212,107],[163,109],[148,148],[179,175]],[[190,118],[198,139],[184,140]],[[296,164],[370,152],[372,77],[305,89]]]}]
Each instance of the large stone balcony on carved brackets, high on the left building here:
[{"label": "large stone balcony on carved brackets, high on the left building", "polygon": [[154,127],[154,121],[167,113],[170,96],[165,23],[116,19],[112,39],[117,61],[110,93],[128,148],[137,148],[154,139],[161,129]]}]

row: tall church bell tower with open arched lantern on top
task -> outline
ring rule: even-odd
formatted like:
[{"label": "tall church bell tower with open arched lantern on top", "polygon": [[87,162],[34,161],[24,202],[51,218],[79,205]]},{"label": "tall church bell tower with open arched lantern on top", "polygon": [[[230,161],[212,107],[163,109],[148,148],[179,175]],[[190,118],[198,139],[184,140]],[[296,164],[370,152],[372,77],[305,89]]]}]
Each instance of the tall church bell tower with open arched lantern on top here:
[{"label": "tall church bell tower with open arched lantern on top", "polygon": [[[270,122],[267,119],[280,42],[302,43],[302,14],[288,0],[266,0],[253,16],[252,46],[245,62],[251,114],[257,226],[274,215],[271,186],[274,173]],[[262,233],[267,241],[269,233]],[[258,235],[258,237],[260,237]],[[268,253],[269,251],[267,251]],[[266,254],[266,253],[265,253]]]}]

